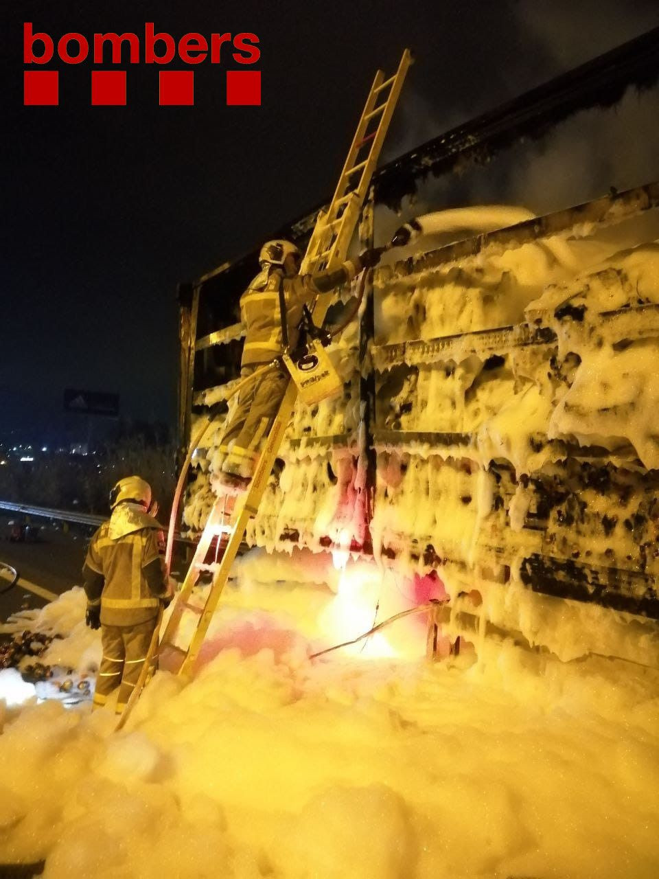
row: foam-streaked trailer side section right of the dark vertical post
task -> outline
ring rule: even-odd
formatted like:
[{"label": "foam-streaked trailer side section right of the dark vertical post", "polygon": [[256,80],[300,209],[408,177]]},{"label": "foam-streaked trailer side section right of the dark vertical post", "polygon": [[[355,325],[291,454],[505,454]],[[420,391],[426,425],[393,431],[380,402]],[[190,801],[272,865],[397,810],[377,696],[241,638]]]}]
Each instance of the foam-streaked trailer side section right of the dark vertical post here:
[{"label": "foam-streaked trailer side section right of the dark vertical post", "polygon": [[659,660],[656,197],[598,200],[376,280],[373,541],[564,658]]}]

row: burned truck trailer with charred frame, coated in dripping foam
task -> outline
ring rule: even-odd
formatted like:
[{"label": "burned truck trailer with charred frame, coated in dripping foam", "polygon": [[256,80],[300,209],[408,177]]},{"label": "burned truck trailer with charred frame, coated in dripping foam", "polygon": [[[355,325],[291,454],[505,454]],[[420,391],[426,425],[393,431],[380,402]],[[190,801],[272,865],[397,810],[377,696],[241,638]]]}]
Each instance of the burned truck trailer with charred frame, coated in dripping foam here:
[{"label": "burned truck trailer with charred frame, coated in dripping foam", "polygon": [[[303,246],[316,214],[277,236]],[[329,348],[343,394],[296,404],[247,542],[434,579],[429,630],[453,639],[659,665],[657,241],[649,184],[444,247],[421,239],[362,301],[338,290],[326,323],[356,312]],[[255,252],[180,288],[184,449],[235,384],[257,268]],[[223,421],[195,453],[193,533],[219,490]]]}]

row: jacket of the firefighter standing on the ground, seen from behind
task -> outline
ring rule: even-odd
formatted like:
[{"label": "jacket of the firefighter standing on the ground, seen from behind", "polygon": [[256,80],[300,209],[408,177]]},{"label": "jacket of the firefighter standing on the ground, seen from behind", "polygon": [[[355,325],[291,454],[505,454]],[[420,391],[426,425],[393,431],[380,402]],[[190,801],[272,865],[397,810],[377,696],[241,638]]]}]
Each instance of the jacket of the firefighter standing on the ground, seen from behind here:
[{"label": "jacket of the firefighter standing on the ground, seen from behind", "polygon": [[139,504],[123,503],[93,535],[83,567],[88,604],[105,626],[135,626],[158,613],[167,593],[163,526]]}]

